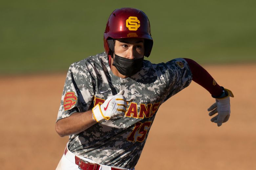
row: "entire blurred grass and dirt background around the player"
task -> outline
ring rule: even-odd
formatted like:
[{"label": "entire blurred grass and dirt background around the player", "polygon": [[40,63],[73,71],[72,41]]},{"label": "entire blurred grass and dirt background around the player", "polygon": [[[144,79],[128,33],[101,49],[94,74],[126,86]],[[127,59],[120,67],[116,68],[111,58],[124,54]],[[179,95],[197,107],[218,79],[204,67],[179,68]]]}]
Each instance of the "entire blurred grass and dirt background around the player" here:
[{"label": "entire blurred grass and dirt background around the player", "polygon": [[55,169],[68,137],[55,120],[70,64],[104,51],[117,8],[144,11],[154,63],[191,58],[233,91],[230,121],[218,128],[214,102],[194,82],[156,116],[136,170],[256,169],[254,0],[8,0],[0,5],[0,169]]}]

